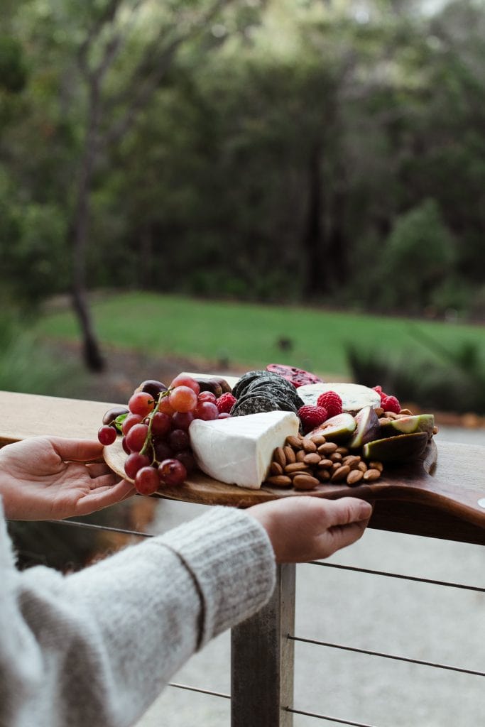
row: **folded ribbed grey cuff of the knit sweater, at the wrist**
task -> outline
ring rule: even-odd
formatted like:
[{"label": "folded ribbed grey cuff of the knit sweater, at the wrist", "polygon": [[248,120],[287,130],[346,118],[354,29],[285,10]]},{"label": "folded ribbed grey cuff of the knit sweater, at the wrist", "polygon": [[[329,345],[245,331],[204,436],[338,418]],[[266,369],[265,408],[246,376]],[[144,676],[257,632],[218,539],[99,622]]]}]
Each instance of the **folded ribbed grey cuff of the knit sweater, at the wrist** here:
[{"label": "folded ribbed grey cuff of the knit sweater, at the wrist", "polygon": [[206,515],[157,537],[191,572],[201,598],[199,644],[256,613],[276,580],[268,534],[250,515],[212,507]]}]

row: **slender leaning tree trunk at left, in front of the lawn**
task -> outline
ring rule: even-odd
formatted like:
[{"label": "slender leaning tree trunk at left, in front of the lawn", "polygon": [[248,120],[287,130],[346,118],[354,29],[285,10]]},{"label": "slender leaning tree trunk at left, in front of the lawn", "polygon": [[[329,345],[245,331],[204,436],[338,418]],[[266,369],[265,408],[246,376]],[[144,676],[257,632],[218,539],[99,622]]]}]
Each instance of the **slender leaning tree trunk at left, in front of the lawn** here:
[{"label": "slender leaning tree trunk at left, in front of the lawn", "polygon": [[93,92],[89,109],[89,126],[81,160],[77,204],[71,224],[73,246],[73,309],[79,318],[83,340],[84,363],[90,371],[103,371],[105,361],[92,326],[86,291],[86,248],[89,233],[89,190],[96,153],[97,95]]}]

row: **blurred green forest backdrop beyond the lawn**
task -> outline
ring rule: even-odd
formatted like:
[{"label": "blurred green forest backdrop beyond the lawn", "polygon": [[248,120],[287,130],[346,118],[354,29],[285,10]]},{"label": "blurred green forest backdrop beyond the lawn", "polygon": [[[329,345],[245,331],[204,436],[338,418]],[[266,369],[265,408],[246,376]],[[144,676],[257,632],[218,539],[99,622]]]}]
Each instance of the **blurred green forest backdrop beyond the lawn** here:
[{"label": "blurred green forest backdrop beyond the lawn", "polygon": [[4,4],[2,286],[70,288],[92,149],[90,287],[483,319],[484,4],[210,7]]}]

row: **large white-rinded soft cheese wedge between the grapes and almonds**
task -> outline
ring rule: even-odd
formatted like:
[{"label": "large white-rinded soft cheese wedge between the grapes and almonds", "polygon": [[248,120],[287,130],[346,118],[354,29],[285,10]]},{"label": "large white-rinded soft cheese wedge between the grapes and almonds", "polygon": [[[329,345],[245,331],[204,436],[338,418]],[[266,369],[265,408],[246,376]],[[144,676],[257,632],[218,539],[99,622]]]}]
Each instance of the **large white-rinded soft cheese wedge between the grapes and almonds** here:
[{"label": "large white-rinded soft cheese wedge between the grapes and almonds", "polygon": [[292,411],[265,411],[204,422],[189,427],[197,464],[209,477],[230,485],[259,489],[276,447],[298,432]]}]

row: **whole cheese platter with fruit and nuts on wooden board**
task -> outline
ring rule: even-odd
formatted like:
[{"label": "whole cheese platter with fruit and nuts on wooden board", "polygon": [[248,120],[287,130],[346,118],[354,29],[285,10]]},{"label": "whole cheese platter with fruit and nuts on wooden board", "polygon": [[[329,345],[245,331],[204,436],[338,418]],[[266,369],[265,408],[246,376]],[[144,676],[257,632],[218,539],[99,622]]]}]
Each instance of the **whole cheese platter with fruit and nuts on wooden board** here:
[{"label": "whole cheese platter with fruit and nuts on wooden board", "polygon": [[[103,430],[121,433],[108,433],[105,461],[140,494],[183,502],[250,507],[302,494],[351,496],[416,503],[485,527],[485,486],[439,471],[433,415],[401,410],[380,387],[303,378],[289,388],[275,377],[281,371],[269,367],[239,379],[183,373],[158,392],[143,382],[126,411],[103,417]],[[195,398],[185,391],[188,379]],[[212,385],[214,398],[204,396]],[[317,411],[324,403],[325,415]]]}]

